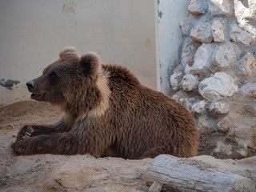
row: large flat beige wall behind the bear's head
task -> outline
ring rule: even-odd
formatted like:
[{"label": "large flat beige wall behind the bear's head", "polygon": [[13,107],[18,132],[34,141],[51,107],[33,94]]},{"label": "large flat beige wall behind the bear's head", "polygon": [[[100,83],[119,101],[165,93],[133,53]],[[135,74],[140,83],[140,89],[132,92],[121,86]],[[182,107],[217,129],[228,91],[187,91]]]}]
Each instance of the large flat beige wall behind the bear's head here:
[{"label": "large flat beige wall behind the bear's head", "polygon": [[0,1],[0,103],[28,98],[26,82],[42,74],[64,46],[81,54],[96,51],[102,63],[128,66],[156,89],[154,2]]}]

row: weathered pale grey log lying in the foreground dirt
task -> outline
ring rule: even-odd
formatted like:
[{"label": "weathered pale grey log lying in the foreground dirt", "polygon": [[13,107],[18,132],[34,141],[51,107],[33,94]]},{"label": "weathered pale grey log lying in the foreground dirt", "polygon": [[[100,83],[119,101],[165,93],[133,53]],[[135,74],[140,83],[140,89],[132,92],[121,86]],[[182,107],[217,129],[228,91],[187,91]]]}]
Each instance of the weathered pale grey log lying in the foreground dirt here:
[{"label": "weathered pale grey log lying in the foreground dirt", "polygon": [[206,162],[167,154],[159,155],[150,163],[146,181],[170,191],[256,191],[249,178],[224,172]]}]

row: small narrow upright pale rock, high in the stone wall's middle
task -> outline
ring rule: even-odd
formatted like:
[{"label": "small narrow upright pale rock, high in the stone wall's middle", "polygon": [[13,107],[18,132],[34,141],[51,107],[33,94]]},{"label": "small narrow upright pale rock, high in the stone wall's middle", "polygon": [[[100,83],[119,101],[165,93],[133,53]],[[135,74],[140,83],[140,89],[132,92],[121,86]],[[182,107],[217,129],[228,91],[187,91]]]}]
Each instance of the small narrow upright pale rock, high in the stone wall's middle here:
[{"label": "small narrow upright pale rock, high in the stone wall's middle", "polygon": [[214,42],[225,42],[226,39],[226,23],[222,19],[217,19],[211,26],[214,36]]}]

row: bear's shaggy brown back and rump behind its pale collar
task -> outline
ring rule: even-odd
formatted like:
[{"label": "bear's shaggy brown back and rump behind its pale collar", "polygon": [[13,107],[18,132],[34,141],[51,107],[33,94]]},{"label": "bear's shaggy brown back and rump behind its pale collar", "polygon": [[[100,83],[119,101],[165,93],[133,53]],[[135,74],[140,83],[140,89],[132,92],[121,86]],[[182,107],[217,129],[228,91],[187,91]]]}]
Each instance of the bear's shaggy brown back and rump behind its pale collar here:
[{"label": "bear's shaggy brown back and rump behind its pale collar", "polygon": [[[116,145],[122,150],[123,158],[138,158],[142,151],[164,143],[174,146],[171,150],[175,156],[189,157],[196,153],[191,154],[190,149],[194,146],[197,150],[198,133],[194,118],[185,106],[142,86],[126,67],[102,67],[109,73],[110,117],[118,126]],[[122,146],[126,146],[126,150]]]}]

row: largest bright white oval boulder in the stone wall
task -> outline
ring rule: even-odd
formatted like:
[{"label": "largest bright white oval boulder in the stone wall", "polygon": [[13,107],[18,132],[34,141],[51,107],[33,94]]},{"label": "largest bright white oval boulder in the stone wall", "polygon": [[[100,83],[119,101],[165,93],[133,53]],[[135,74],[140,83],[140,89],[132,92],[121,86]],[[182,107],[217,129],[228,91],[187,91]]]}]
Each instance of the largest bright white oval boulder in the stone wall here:
[{"label": "largest bright white oval boulder in the stone wall", "polygon": [[212,77],[204,79],[198,87],[199,94],[210,101],[230,97],[238,91],[235,79],[224,72],[218,72]]}]

